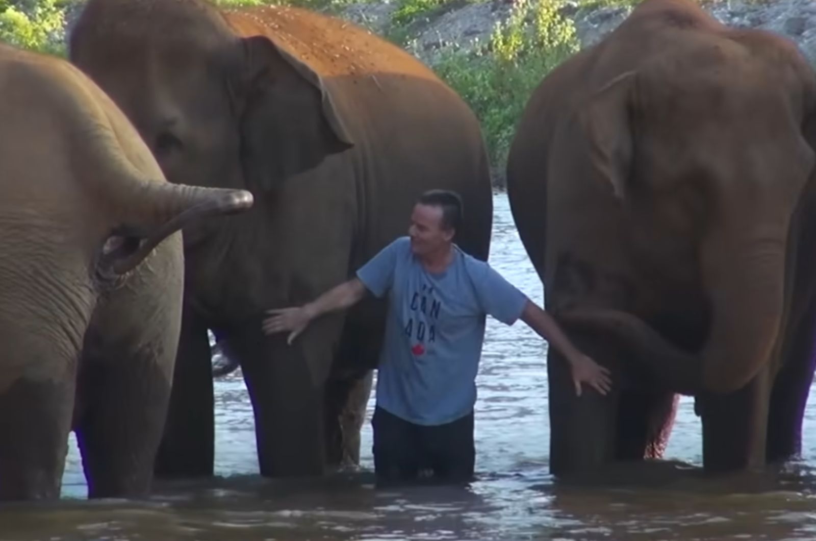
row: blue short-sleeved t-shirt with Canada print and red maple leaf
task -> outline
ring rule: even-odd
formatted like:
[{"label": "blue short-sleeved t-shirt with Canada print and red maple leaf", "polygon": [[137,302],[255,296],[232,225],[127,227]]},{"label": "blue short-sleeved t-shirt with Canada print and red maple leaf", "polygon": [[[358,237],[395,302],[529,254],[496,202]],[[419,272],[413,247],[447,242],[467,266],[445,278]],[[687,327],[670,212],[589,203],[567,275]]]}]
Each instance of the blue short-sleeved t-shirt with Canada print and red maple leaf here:
[{"label": "blue short-sleeved t-shirt with Canada print and red maple leaf", "polygon": [[524,293],[456,246],[450,266],[429,273],[408,237],[383,248],[357,270],[357,278],[375,297],[388,293],[377,405],[420,425],[470,414],[485,315],[515,323],[527,301]]}]

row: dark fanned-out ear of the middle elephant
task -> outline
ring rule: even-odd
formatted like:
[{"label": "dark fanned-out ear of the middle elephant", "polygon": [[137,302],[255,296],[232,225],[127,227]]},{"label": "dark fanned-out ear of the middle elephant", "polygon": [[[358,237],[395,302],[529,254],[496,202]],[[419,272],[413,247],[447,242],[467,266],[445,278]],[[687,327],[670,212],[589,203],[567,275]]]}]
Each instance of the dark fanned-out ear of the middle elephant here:
[{"label": "dark fanned-out ear of the middle elephant", "polygon": [[322,78],[264,36],[242,38],[242,162],[260,190],[348,150],[351,137]]}]

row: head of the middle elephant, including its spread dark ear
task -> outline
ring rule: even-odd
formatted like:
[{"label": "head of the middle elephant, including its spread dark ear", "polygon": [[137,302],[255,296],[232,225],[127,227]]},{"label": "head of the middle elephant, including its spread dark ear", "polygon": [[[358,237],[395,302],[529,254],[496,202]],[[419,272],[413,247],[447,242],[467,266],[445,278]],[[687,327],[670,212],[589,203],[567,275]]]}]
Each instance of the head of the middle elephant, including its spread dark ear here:
[{"label": "head of the middle elephant, including its spread dark ear", "polygon": [[260,196],[351,146],[313,69],[267,37],[238,36],[206,2],[91,0],[69,54],[131,118],[171,182]]}]

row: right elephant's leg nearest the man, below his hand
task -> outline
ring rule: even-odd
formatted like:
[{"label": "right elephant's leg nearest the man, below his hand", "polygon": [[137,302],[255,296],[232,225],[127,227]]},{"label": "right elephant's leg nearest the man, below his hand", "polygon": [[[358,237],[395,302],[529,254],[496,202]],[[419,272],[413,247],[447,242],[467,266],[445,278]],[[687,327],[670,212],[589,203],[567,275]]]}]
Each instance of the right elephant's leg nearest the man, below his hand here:
[{"label": "right elephant's leg nearest the man, below his hand", "polygon": [[[588,334],[574,332],[570,338],[580,351],[603,363],[612,345]],[[550,415],[550,472],[555,476],[587,472],[614,459],[619,390],[607,396],[584,386],[575,395],[570,367],[555,348],[547,360]],[[613,373],[613,381],[619,374]]]}]

